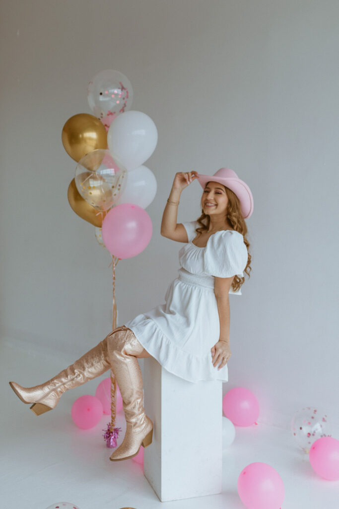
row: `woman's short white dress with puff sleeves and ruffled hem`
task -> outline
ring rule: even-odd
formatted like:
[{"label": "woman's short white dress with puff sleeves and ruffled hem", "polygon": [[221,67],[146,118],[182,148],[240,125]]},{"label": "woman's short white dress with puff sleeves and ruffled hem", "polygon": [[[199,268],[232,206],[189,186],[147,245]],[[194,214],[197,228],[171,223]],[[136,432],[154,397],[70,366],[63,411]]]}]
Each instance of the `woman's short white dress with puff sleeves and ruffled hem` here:
[{"label": "woman's short white dress with puff sleeves and ruffled hem", "polygon": [[[192,243],[197,221],[183,222],[188,243],[179,250],[178,277],[169,285],[165,304],[124,325],[152,357],[170,373],[188,380],[228,381],[227,364],[213,366],[211,348],[219,341],[220,321],[214,276],[243,277],[248,251],[243,236],[233,230],[212,234],[205,247]],[[240,290],[231,294],[241,295]]]}]

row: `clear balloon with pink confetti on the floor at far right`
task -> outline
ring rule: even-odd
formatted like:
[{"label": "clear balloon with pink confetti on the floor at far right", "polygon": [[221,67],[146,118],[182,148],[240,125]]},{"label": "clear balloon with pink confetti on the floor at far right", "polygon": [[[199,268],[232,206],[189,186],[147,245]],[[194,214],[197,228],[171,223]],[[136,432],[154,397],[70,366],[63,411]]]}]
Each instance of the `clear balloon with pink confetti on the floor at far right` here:
[{"label": "clear balloon with pink confetti on the floor at far right", "polygon": [[298,410],[291,420],[291,431],[302,450],[309,454],[313,442],[327,434],[327,414],[319,408],[304,407]]}]

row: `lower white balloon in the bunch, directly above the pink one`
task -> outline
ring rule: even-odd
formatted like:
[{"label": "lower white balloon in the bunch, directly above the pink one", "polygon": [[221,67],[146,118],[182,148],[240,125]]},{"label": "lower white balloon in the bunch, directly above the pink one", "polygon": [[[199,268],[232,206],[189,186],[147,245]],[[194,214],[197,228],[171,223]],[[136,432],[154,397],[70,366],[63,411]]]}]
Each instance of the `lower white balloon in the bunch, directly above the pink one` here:
[{"label": "lower white balloon in the bunch, directly above the pink one", "polygon": [[157,179],[153,172],[144,165],[127,172],[128,179],[124,191],[120,194],[118,204],[133,203],[145,209],[157,194]]}]

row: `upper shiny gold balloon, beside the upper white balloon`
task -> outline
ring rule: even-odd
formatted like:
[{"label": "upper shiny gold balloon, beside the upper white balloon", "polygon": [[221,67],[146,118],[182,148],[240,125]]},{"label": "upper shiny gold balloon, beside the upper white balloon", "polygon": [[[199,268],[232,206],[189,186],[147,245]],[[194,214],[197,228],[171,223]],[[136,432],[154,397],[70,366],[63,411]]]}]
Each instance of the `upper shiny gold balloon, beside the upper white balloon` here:
[{"label": "upper shiny gold balloon, beside the upper white balloon", "polygon": [[68,119],[61,140],[66,152],[75,161],[93,150],[107,149],[105,126],[97,117],[88,113],[79,113]]}]

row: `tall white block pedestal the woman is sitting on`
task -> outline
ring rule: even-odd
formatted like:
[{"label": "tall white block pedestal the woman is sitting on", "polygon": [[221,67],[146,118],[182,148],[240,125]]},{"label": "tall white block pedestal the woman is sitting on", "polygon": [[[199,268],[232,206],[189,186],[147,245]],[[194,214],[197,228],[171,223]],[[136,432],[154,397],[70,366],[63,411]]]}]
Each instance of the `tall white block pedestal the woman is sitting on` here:
[{"label": "tall white block pedestal the woman is sitting on", "polygon": [[144,475],[162,502],[222,492],[222,382],[192,383],[144,360],[153,440]]}]

